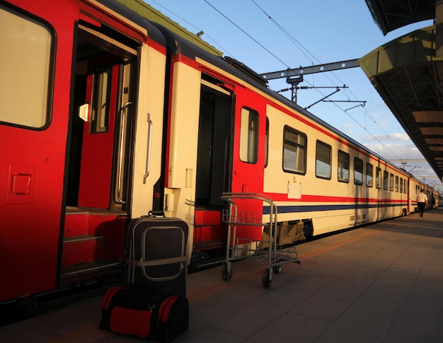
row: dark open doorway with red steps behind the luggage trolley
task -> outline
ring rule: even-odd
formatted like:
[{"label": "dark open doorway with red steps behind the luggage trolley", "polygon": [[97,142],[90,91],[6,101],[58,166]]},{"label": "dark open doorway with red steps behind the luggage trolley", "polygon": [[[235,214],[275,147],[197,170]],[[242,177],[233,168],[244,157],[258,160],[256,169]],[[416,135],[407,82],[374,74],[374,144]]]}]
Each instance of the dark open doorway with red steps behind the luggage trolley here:
[{"label": "dark open doorway with red steps behind the luggage trolley", "polygon": [[222,224],[223,192],[231,190],[231,123],[234,110],[232,86],[203,76],[195,182],[193,251],[226,246]]}]

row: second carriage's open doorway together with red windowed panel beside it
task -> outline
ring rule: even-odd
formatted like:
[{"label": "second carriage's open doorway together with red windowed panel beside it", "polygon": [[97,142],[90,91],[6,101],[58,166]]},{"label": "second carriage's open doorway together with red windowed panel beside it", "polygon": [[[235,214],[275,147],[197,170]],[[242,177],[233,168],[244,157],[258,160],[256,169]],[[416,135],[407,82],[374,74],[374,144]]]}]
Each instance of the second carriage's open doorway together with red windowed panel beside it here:
[{"label": "second carriage's open doorway together with red windowed panel beside it", "polygon": [[[200,251],[226,247],[221,213],[227,204],[222,193],[263,192],[265,153],[259,146],[265,146],[265,111],[257,107],[256,97],[252,91],[202,76],[193,233],[197,258],[206,257]],[[261,214],[263,204],[240,199],[238,209]],[[248,231],[245,238],[261,239],[261,228],[239,227],[238,232],[242,229]]]}]

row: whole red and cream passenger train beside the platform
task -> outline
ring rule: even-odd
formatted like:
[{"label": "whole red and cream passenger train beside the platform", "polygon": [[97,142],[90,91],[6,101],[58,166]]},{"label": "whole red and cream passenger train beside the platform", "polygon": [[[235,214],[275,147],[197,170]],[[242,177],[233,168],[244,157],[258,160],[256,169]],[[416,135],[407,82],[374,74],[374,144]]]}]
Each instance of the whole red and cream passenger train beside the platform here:
[{"label": "whole red and cream passenger train beside the platform", "polygon": [[117,1],[1,0],[0,27],[0,302],[124,273],[142,216],[185,221],[189,263],[215,256],[226,193],[266,194],[303,239],[413,214],[422,188],[442,204],[248,66]]}]

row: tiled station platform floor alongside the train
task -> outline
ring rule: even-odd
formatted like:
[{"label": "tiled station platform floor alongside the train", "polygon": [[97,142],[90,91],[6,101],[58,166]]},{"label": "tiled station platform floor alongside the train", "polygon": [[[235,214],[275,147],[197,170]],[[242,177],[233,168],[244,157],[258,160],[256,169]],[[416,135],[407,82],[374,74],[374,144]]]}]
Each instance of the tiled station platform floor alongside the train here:
[{"label": "tiled station platform floor alongside the train", "polygon": [[[188,276],[190,328],[173,342],[442,342],[443,208],[297,245],[267,262]],[[100,298],[0,327],[1,342],[142,342],[98,329]]]}]

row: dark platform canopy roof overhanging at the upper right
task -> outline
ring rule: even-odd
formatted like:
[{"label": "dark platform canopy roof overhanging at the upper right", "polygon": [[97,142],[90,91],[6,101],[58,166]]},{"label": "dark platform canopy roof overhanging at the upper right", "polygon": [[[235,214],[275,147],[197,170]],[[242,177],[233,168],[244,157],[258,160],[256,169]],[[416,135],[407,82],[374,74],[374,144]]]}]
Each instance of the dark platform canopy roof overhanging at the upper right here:
[{"label": "dark platform canopy roof overhanging at the upper right", "polygon": [[[366,0],[384,34],[403,25],[435,18],[358,60],[437,176],[443,178],[443,1]],[[437,8],[437,9],[436,9]],[[440,8],[440,10],[439,10]]]}]

